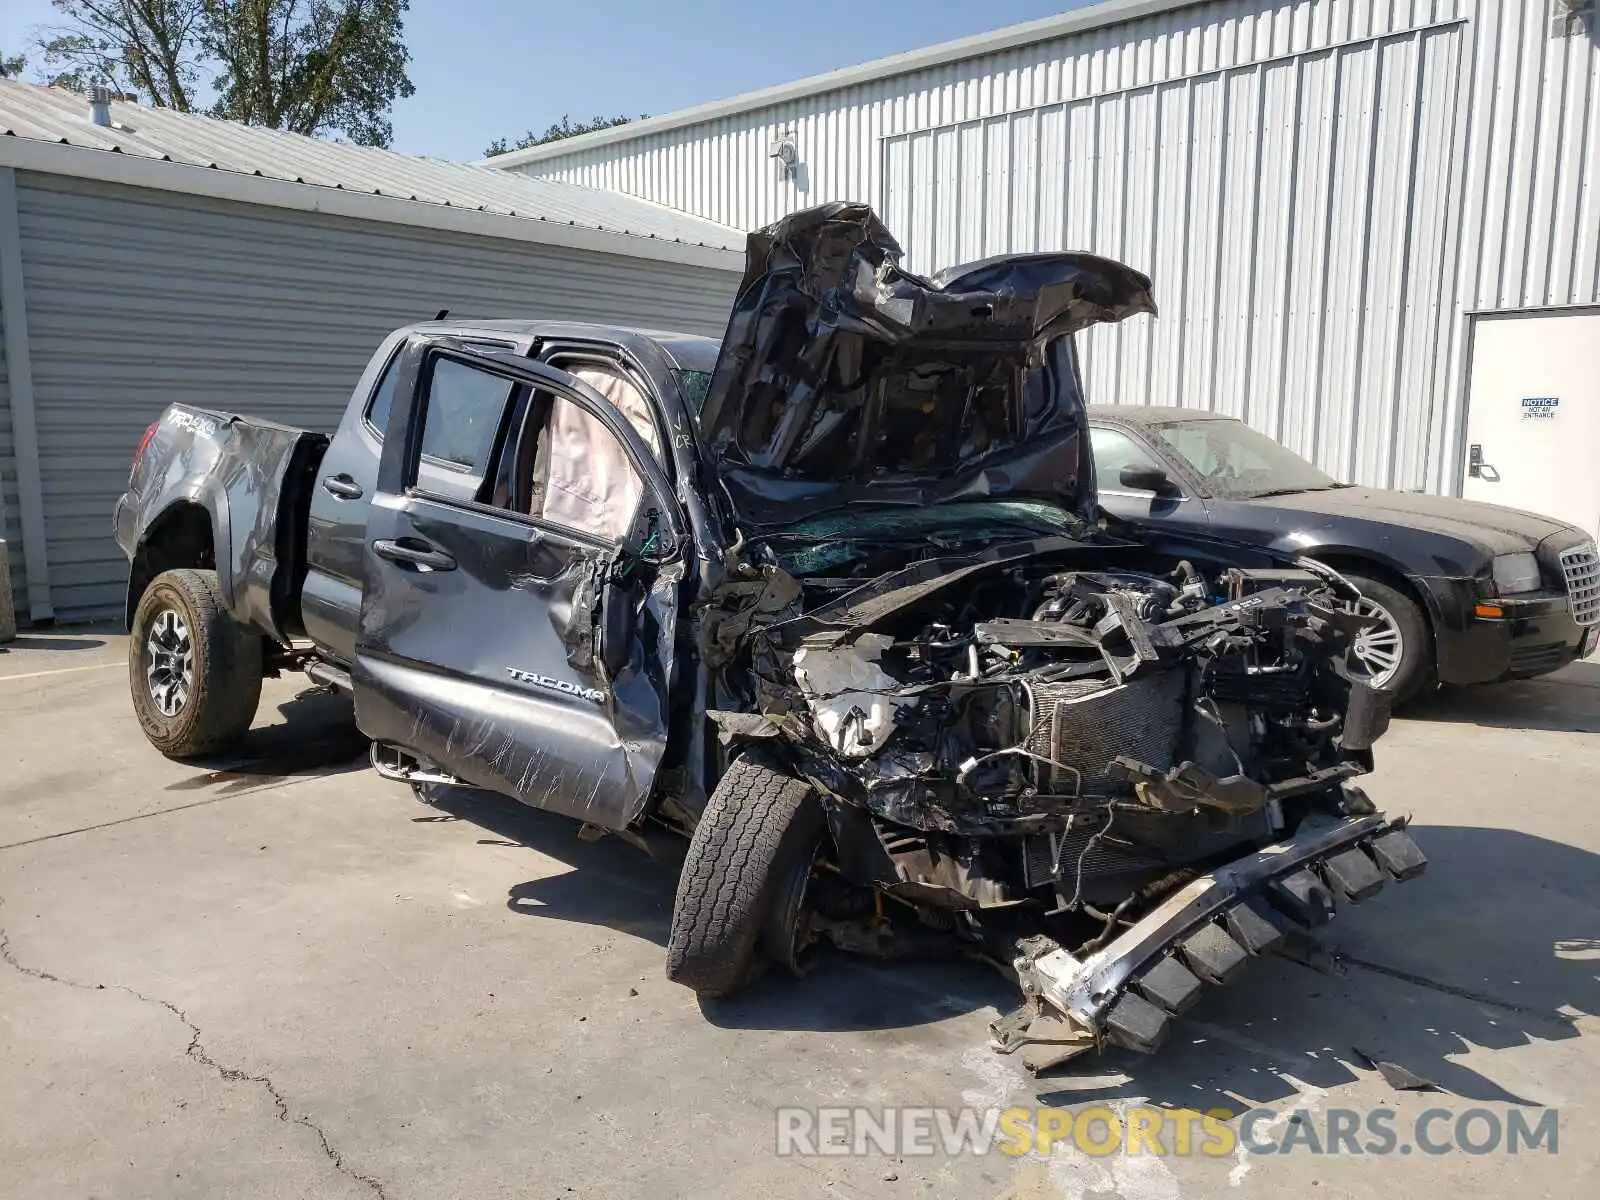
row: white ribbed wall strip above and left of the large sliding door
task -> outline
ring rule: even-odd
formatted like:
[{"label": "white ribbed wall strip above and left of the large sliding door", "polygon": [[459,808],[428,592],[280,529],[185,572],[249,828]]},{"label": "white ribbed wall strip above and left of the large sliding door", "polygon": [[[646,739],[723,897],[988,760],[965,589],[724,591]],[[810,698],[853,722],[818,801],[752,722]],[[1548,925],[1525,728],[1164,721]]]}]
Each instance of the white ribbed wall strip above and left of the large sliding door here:
[{"label": "white ribbed wall strip above and left of the large sliding door", "polygon": [[[1373,38],[1472,0],[1218,0],[512,168],[640,195],[739,229],[878,200],[878,139]],[[1539,0],[1506,0],[1539,6]],[[802,171],[766,157],[790,133]]]}]

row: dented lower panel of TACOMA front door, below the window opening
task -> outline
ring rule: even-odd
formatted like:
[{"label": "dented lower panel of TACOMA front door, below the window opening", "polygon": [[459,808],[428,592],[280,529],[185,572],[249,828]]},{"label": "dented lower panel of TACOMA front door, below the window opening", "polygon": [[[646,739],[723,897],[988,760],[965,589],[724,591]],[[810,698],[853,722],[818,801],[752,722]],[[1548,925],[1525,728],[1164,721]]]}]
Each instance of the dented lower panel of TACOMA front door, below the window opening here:
[{"label": "dented lower panel of TACOMA front door, below the window opening", "polygon": [[645,669],[654,646],[640,642],[616,678],[594,653],[611,554],[418,498],[374,507],[370,536],[426,541],[456,566],[408,571],[368,552],[363,733],[539,808],[635,819],[666,747],[666,688]]}]

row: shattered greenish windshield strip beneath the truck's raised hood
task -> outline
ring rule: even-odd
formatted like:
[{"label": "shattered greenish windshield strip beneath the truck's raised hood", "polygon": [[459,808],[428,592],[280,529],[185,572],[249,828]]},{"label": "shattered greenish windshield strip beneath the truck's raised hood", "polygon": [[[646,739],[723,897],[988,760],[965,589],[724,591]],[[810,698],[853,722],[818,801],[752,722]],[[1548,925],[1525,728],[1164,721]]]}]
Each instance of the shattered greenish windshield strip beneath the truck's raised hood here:
[{"label": "shattered greenish windshield strip beneath the truck's raised hood", "polygon": [[930,507],[856,506],[832,512],[766,538],[779,566],[806,576],[848,566],[853,562],[907,542],[933,552],[974,542],[1024,538],[1082,536],[1083,518],[1048,501],[979,501]]}]

